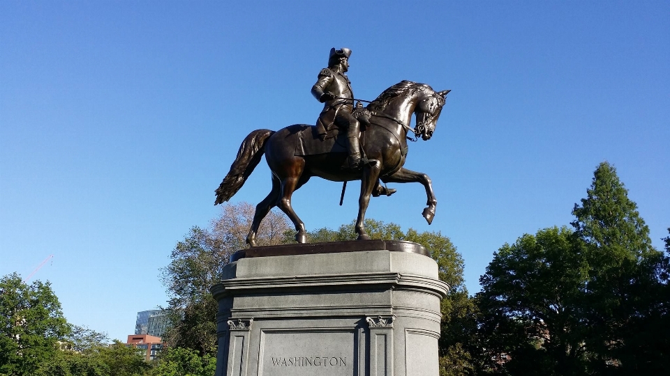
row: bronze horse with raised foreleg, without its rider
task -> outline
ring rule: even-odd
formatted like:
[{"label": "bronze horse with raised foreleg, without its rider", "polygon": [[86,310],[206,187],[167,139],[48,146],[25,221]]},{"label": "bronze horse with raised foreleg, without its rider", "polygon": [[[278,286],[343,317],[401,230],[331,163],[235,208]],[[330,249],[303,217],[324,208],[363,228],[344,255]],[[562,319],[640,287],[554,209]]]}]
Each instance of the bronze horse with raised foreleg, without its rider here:
[{"label": "bronze horse with raised foreleg, without its rider", "polygon": [[[272,171],[272,189],[256,206],[253,223],[246,237],[250,246],[256,246],[260,221],[274,206],[278,206],[295,225],[295,240],[299,243],[307,242],[305,225],[291,207],[291,196],[312,176],[345,183],[361,180],[356,220],[359,240],[370,239],[363,222],[370,195],[378,185],[378,180],[385,183],[420,182],[424,185],[428,207],[424,208],[422,215],[431,224],[438,203],[431,179],[425,173],[403,168],[403,164],[408,151],[408,132],[413,132],[417,138],[421,136],[424,141],[431,139],[447,93],[448,90],[435,92],[426,84],[402,81],[387,88],[370,102],[364,111],[369,117],[368,124],[360,136],[367,163],[359,170],[346,167],[346,132],[338,136],[337,130],[334,130],[322,140],[310,125],[290,125],[277,132],[255,130],[242,142],[228,175],[216,189],[214,205],[230,200],[265,154]],[[416,115],[415,128],[410,127],[412,113]]]}]

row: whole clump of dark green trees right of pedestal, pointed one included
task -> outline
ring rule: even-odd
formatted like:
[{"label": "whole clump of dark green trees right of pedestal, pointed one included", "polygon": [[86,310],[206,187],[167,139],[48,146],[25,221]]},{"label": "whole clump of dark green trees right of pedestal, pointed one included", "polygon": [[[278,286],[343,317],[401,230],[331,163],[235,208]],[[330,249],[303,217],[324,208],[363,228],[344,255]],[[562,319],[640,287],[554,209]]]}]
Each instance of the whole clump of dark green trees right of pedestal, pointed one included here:
[{"label": "whole clump of dark green trees right of pedestal, pointed one included", "polygon": [[[480,279],[480,348],[504,375],[658,375],[667,366],[668,257],[613,166],[575,205],[574,233],[547,228],[505,244]],[[670,242],[670,240],[669,240]]]}]

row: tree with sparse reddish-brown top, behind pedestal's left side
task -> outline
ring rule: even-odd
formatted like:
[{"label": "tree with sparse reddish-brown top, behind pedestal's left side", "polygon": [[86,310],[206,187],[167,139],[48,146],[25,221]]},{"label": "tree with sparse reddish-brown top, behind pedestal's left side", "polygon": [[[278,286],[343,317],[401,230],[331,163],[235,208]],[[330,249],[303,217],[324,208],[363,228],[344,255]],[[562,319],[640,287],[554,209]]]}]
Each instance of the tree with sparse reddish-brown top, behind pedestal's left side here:
[{"label": "tree with sparse reddish-brown top, behind pedestal's left side", "polygon": [[[209,228],[191,228],[172,250],[170,265],[161,270],[170,295],[172,327],[165,335],[170,347],[188,347],[200,354],[214,350],[218,305],[209,288],[221,279],[230,255],[246,248],[254,211],[248,203],[223,205]],[[280,244],[288,229],[283,214],[270,212],[258,231],[258,245]]]}]

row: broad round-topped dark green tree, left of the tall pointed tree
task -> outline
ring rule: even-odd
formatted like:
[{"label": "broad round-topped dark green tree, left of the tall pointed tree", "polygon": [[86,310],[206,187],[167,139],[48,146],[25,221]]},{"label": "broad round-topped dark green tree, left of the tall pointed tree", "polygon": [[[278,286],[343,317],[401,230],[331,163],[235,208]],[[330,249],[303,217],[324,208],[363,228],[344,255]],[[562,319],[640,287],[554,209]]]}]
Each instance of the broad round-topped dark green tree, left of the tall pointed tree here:
[{"label": "broad round-topped dark green tree, left of the tall pointed tree", "polygon": [[586,273],[581,249],[565,227],[503,245],[479,279],[489,356],[509,354],[504,368],[512,374],[585,375],[580,309]]}]

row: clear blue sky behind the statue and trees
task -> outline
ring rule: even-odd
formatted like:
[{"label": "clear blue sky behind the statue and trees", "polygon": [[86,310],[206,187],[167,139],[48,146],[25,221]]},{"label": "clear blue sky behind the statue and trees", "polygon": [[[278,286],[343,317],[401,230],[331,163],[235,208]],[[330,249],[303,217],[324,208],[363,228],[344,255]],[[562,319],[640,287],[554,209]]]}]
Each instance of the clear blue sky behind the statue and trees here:
[{"label": "clear blue sky behind the statue and trees", "polygon": [[[356,97],[403,79],[452,89],[421,185],[368,217],[441,231],[471,293],[496,251],[569,225],[609,161],[655,246],[670,226],[670,1],[0,1],[0,275],[48,280],[66,318],[125,339],[165,305],[158,269],[251,130],[314,123],[331,47]],[[353,187],[356,187],[354,185]],[[234,201],[270,188],[262,162]],[[357,213],[356,189],[313,179],[308,229]],[[310,198],[318,195],[318,199]]]}]

